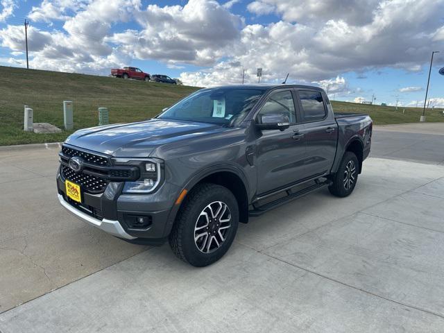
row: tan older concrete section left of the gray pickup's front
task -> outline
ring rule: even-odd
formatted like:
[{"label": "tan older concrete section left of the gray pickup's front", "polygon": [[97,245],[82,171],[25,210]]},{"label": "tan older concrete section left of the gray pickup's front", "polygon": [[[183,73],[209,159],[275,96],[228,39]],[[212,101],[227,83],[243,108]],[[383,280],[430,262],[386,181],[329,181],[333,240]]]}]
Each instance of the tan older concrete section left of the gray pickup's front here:
[{"label": "tan older concrete section left of the gray pickup's front", "polygon": [[0,151],[0,312],[146,249],[91,228],[60,207],[58,151]]}]

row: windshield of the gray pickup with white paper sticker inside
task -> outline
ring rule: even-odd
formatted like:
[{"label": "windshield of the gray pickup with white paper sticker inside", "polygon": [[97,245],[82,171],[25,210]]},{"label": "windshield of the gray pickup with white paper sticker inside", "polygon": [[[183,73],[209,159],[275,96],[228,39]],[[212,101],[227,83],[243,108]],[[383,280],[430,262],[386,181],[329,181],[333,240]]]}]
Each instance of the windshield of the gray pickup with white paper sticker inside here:
[{"label": "windshield of the gray pickup with white paper sticker inside", "polygon": [[237,126],[264,92],[264,89],[238,87],[201,89],[182,99],[157,118]]}]

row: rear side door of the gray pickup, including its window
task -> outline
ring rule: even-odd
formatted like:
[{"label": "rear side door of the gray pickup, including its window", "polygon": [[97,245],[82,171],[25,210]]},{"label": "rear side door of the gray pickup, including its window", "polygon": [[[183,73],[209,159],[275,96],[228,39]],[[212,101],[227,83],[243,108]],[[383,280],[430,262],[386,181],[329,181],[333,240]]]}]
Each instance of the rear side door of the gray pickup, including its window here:
[{"label": "rear side door of the gray pickup, including its window", "polygon": [[305,128],[307,172],[310,177],[329,173],[338,137],[338,125],[329,110],[330,101],[321,91],[298,89],[297,94]]}]

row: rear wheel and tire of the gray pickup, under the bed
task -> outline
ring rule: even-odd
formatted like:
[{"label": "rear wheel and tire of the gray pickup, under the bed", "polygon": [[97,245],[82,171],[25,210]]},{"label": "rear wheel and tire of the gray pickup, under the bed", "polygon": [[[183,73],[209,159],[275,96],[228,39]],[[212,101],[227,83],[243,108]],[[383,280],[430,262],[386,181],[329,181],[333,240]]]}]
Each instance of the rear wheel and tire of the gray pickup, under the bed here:
[{"label": "rear wheel and tire of the gray pickup, under the bed", "polygon": [[332,185],[328,187],[331,194],[343,198],[350,196],[355,189],[359,173],[359,163],[356,155],[350,151],[346,151],[338,171],[332,178]]}]

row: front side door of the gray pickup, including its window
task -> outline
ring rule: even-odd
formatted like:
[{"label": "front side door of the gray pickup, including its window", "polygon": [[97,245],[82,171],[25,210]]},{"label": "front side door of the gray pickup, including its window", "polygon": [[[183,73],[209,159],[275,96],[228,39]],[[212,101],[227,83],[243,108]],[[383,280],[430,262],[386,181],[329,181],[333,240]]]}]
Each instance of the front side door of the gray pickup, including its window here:
[{"label": "front side door of the gray pickup, including its window", "polygon": [[262,130],[257,139],[257,194],[265,194],[306,177],[305,129],[296,117],[293,95],[291,89],[273,92],[259,111],[258,116],[267,113],[288,115],[290,127],[282,131]]}]

